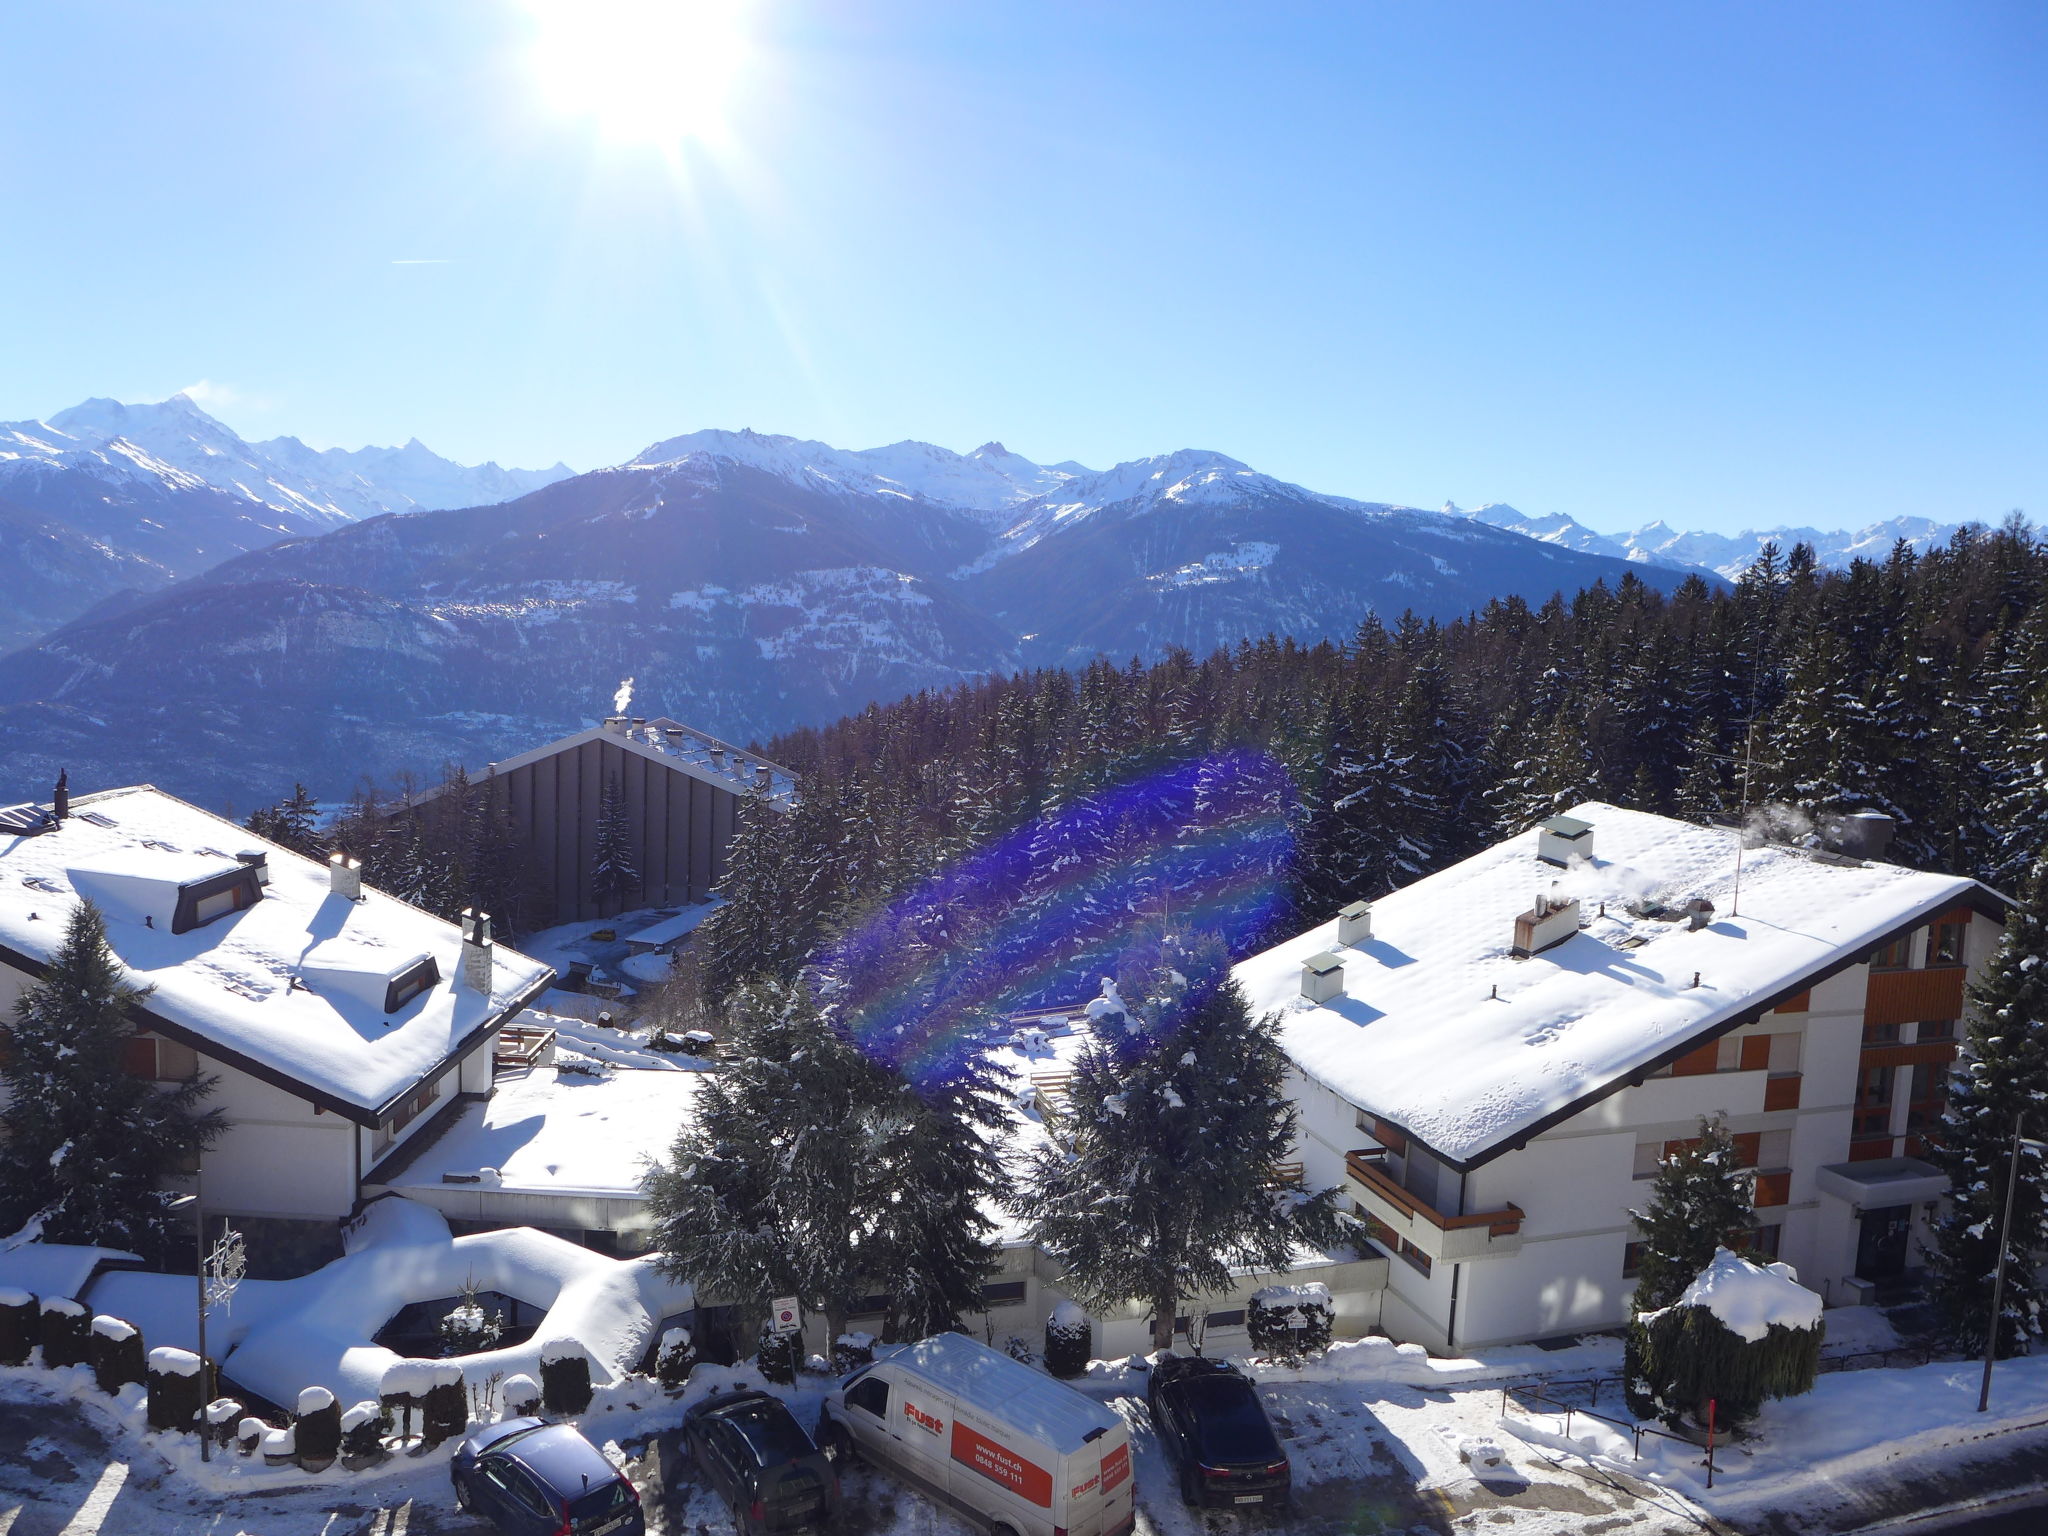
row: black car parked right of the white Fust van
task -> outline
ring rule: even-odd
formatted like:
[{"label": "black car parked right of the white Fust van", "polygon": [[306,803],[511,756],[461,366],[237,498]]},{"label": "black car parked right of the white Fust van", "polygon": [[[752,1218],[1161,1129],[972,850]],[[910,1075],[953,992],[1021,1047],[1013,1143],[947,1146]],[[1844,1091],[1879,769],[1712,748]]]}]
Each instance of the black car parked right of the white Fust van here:
[{"label": "black car parked right of the white Fust van", "polygon": [[1145,1389],[1188,1503],[1286,1507],[1292,1470],[1251,1380],[1223,1360],[1167,1356]]}]

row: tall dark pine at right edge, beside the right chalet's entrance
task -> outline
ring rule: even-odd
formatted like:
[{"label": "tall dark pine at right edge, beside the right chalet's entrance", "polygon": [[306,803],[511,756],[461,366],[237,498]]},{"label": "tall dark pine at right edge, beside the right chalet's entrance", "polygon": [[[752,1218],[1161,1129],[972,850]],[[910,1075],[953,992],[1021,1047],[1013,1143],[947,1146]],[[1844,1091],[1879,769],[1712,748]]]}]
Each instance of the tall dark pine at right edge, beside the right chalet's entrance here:
[{"label": "tall dark pine at right edge, beside the right chalet's entrance", "polygon": [[1970,1026],[1956,1067],[1942,1133],[1927,1159],[1950,1180],[1948,1204],[1929,1255],[1931,1294],[1944,1331],[1960,1348],[1982,1348],[1991,1327],[1991,1272],[2007,1243],[1999,1354],[2030,1348],[2044,1333],[2034,1253],[2048,1247],[2042,1159],[2028,1149],[2013,1194],[2013,1227],[2003,1231],[2013,1130],[2048,1137],[2048,866],[2036,864],[2005,918],[2005,938],[1970,993]]}]

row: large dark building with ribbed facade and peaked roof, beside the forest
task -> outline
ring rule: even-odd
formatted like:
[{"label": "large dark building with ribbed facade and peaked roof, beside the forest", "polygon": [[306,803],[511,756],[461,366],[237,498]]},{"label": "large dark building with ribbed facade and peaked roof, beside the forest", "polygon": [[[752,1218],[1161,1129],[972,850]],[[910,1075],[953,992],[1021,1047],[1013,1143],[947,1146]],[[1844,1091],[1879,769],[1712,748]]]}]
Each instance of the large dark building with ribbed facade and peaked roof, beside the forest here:
[{"label": "large dark building with ribbed facade and peaked roof, beside the forest", "polygon": [[758,793],[786,809],[797,788],[760,754],[670,719],[625,715],[492,768],[559,924],[612,915],[590,893],[608,782],[618,782],[633,827],[635,907],[705,901],[725,877],[739,801]]}]

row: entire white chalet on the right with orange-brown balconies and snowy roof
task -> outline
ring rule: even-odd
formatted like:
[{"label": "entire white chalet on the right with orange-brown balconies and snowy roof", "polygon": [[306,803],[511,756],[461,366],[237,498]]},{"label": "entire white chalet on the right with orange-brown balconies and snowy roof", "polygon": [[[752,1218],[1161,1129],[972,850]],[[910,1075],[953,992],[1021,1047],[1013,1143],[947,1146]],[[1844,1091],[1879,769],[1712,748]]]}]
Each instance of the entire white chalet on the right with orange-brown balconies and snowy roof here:
[{"label": "entire white chalet on the right with orange-brown balconies and snowy roof", "polygon": [[1714,1114],[1755,1169],[1753,1249],[1831,1305],[1917,1268],[1948,1188],[1923,1137],[2005,899],[1858,856],[1882,823],[1855,836],[1741,848],[1581,805],[1241,963],[1280,1016],[1309,1186],[1391,1257],[1348,1331],[1620,1325],[1630,1208]]}]

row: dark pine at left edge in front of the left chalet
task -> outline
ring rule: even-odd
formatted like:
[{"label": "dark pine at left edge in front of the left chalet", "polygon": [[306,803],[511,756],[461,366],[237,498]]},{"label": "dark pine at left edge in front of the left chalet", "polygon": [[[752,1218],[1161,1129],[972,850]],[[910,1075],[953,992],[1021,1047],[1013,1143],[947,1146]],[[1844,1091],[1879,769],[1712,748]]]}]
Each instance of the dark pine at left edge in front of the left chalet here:
[{"label": "dark pine at left edge in front of the left chalet", "polygon": [[211,1077],[162,1087],[123,1071],[135,1034],[127,985],[98,907],[80,901],[43,979],[14,1001],[0,1110],[0,1229],[41,1217],[53,1243],[158,1255],[174,1223],[158,1176],[188,1167],[223,1128],[201,1110]]}]

